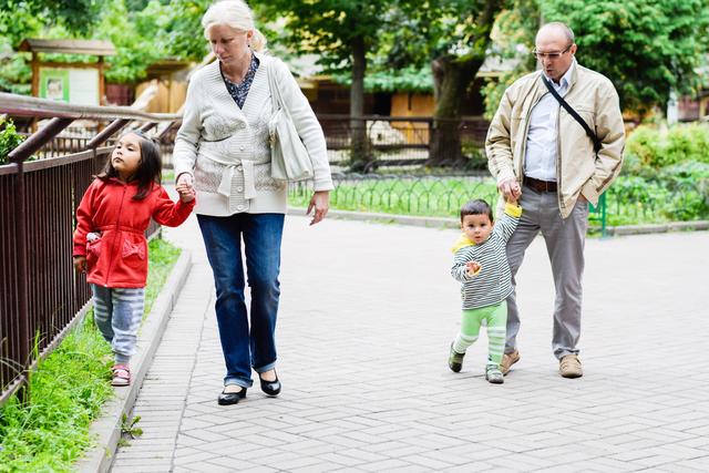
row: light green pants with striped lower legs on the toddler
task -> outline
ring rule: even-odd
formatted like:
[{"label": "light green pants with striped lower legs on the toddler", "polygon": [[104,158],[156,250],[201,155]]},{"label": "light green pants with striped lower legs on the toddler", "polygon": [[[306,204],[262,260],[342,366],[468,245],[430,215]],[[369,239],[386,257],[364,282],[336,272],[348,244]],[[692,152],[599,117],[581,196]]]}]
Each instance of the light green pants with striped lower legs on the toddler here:
[{"label": "light green pants with striped lower legs on the toddler", "polygon": [[495,306],[463,310],[461,332],[453,342],[453,350],[465,353],[467,347],[477,340],[483,321],[487,326],[487,364],[500,366],[507,326],[507,302],[504,300]]}]

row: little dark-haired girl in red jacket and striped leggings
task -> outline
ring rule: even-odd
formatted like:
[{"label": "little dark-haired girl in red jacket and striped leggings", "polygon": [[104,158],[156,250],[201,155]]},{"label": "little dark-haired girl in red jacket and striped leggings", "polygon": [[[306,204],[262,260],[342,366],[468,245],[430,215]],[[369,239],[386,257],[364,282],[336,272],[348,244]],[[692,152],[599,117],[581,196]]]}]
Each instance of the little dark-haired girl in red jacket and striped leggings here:
[{"label": "little dark-haired girl in red jacket and striped leggings", "polygon": [[131,383],[131,356],[143,318],[151,217],[176,227],[195,205],[192,186],[177,186],[173,203],[161,183],[157,145],[141,132],[121,136],[104,169],[76,209],[74,267],[86,273],[94,320],[115,353],[113,385]]}]

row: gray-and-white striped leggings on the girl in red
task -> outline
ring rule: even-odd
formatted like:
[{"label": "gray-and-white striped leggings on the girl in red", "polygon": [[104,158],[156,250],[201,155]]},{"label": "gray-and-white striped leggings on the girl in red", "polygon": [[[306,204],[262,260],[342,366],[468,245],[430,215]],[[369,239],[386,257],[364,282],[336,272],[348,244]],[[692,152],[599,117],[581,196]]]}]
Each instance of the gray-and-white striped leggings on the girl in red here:
[{"label": "gray-and-white striped leggings on the girl in red", "polygon": [[93,319],[111,343],[116,363],[127,363],[135,354],[137,329],[143,320],[144,288],[110,288],[91,285]]}]

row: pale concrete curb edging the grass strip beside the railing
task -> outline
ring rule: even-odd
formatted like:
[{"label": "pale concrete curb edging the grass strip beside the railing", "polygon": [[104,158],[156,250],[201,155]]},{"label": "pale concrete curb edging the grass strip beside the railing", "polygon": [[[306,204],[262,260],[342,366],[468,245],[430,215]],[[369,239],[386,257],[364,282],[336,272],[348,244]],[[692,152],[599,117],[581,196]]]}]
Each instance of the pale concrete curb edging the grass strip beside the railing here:
[{"label": "pale concrete curb edging the grass strip beside the railing", "polygon": [[151,313],[147,316],[137,339],[137,352],[131,360],[131,385],[116,388],[115,397],[104,407],[102,414],[90,429],[90,435],[96,439],[96,446],[74,465],[78,471],[85,473],[104,473],[111,469],[121,439],[121,425],[123,414],[130,418],[137,394],[145,379],[145,374],[153,362],[153,357],[165,331],[178,294],[192,267],[192,255],[183,249],[177,263],[173,267],[165,286],[153,302]]}]

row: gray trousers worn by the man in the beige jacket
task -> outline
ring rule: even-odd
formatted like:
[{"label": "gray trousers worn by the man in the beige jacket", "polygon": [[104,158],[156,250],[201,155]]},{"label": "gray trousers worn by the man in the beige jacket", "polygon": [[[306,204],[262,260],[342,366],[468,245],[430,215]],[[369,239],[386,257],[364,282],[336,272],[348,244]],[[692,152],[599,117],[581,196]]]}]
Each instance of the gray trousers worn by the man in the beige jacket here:
[{"label": "gray trousers worn by the man in the beige jacket", "polygon": [[[554,333],[552,348],[558,359],[576,354],[580,337],[582,275],[584,273],[584,244],[588,227],[588,203],[576,203],[572,214],[562,218],[556,193],[540,193],[523,187],[522,218],[507,241],[507,260],[512,271],[512,286],[534,237],[541,232],[552,263],[556,298],[554,305]],[[520,310],[516,291],[507,297],[507,340],[505,353],[516,349],[520,331]]]}]

